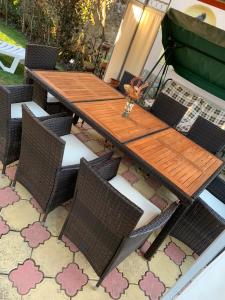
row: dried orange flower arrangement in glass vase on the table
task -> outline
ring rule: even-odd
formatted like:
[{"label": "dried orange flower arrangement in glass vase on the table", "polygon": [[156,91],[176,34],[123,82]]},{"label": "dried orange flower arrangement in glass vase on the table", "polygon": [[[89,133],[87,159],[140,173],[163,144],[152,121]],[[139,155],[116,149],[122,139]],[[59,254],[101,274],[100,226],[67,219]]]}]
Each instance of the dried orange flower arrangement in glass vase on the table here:
[{"label": "dried orange flower arrangement in glass vase on the table", "polygon": [[125,105],[122,116],[127,118],[129,113],[134,107],[134,103],[138,101],[142,94],[143,90],[148,86],[148,83],[143,83],[140,77],[134,77],[130,84],[124,84],[124,90],[127,94],[127,103]]}]

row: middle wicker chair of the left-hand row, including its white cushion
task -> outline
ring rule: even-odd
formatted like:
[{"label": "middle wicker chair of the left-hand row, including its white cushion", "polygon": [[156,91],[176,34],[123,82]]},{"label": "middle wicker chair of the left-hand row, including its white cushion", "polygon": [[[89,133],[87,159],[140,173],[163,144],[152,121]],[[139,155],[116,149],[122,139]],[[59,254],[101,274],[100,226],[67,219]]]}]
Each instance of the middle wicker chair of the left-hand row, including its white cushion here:
[{"label": "middle wicker chair of the left-hand row, including its white cushion", "polygon": [[105,159],[70,134],[71,125],[71,116],[40,121],[23,106],[21,152],[12,186],[18,181],[29,190],[45,213],[43,222],[73,197],[80,158]]}]

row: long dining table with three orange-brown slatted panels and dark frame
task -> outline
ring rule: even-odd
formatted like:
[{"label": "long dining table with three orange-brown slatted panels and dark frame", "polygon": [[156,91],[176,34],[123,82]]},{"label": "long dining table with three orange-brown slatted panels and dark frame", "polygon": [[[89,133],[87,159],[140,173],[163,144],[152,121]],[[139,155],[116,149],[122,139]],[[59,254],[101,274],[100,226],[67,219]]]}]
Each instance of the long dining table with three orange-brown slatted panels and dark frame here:
[{"label": "long dining table with three orange-brown slatted panels and dark frame", "polygon": [[[123,95],[90,73],[32,71],[28,75],[105,137],[110,138],[149,173],[158,177],[181,204],[153,242],[149,259],[193,198],[224,166],[223,162],[168,125],[135,105],[123,118]],[[105,101],[107,100],[107,101]]]}]

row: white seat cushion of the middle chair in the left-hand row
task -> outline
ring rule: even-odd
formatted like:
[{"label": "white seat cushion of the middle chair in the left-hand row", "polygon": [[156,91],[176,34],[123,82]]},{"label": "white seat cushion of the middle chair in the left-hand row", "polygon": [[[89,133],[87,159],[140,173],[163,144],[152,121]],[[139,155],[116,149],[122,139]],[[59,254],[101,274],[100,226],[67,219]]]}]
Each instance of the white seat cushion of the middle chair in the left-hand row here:
[{"label": "white seat cushion of the middle chair in the left-hand row", "polygon": [[87,161],[98,157],[73,134],[61,136],[61,139],[66,142],[62,161],[63,167],[79,164],[82,157]]}]

